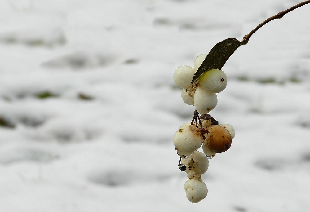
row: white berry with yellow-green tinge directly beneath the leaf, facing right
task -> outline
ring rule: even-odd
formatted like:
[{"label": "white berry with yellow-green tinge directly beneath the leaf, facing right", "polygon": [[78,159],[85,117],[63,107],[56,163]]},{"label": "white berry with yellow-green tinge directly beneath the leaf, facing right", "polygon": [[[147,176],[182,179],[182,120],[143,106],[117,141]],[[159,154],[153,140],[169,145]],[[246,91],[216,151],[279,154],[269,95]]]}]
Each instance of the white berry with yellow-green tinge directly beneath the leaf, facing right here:
[{"label": "white berry with yellow-green tinge directly beneath the leaf, facing right", "polygon": [[224,71],[219,69],[206,71],[198,81],[201,87],[211,93],[219,93],[227,86],[227,76]]}]

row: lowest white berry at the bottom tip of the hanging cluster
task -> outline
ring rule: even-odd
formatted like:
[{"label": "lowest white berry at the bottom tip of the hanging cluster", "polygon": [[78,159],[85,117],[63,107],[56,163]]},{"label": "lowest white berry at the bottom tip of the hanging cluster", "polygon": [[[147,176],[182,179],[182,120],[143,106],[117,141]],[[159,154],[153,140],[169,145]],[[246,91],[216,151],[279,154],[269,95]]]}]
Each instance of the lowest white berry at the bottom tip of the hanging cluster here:
[{"label": "lowest white berry at the bottom tip of the hanging cluster", "polygon": [[188,179],[184,184],[186,197],[193,203],[200,202],[206,198],[208,189],[206,184],[201,179]]}]

